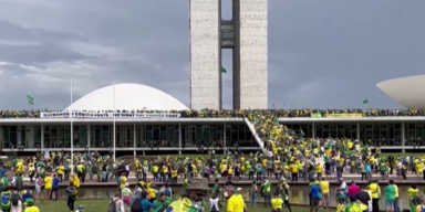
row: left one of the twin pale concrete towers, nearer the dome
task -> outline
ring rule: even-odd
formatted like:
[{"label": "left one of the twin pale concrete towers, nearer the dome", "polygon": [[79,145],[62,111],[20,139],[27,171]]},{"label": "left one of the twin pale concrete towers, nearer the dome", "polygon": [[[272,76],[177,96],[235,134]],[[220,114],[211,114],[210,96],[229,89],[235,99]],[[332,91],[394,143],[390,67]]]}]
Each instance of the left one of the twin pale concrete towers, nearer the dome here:
[{"label": "left one of the twin pale concrete towers, nearer the dome", "polygon": [[189,1],[190,107],[221,108],[220,4]]}]

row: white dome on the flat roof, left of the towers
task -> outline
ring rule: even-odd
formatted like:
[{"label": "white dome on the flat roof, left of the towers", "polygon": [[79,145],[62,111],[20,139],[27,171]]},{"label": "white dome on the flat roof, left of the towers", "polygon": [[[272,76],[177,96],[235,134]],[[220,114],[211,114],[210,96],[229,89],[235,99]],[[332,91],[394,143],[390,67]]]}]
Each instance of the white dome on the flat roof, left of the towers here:
[{"label": "white dome on the flat roof, left of the towers", "polygon": [[[91,92],[66,107],[66,109],[114,109],[114,85]],[[115,109],[185,110],[188,108],[173,96],[154,87],[141,84],[123,83],[115,84]]]}]

